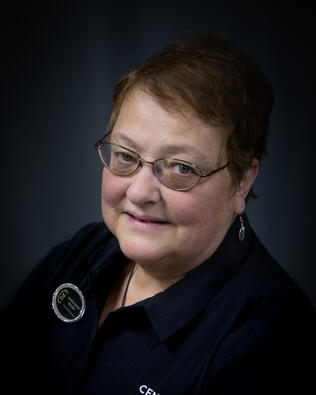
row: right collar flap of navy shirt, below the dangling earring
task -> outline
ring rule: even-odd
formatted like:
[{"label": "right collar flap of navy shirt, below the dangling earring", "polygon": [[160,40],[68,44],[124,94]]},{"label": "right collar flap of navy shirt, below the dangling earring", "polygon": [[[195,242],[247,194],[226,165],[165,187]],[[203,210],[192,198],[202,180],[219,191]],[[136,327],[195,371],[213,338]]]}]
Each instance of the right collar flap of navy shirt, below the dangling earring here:
[{"label": "right collar flap of navy shirt, below the dangling earring", "polygon": [[176,333],[209,304],[245,260],[252,230],[243,215],[245,238],[238,238],[237,217],[221,245],[204,263],[171,287],[144,301],[144,307],[161,341]]}]

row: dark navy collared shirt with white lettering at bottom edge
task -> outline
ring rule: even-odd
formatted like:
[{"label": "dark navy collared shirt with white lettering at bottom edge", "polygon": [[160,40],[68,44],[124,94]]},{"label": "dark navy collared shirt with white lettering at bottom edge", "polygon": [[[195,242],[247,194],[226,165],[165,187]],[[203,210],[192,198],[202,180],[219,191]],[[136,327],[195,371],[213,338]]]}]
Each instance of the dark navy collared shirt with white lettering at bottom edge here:
[{"label": "dark navy collared shirt with white lettering at bottom edge", "polygon": [[[243,242],[237,219],[206,262],[164,292],[111,312],[100,329],[127,260],[103,223],[84,227],[50,252],[2,313],[11,388],[67,395],[315,389],[315,310],[246,218],[245,226]],[[77,322],[52,309],[63,283],[84,295]]]}]

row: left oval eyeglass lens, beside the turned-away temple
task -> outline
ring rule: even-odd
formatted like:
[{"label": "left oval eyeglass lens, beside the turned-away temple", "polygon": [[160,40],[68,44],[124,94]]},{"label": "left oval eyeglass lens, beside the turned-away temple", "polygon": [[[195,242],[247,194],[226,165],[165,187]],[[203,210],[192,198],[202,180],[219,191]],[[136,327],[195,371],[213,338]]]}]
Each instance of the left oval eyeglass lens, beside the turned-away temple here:
[{"label": "left oval eyeglass lens, beside the turned-away temple", "polygon": [[138,156],[117,144],[105,143],[99,148],[103,164],[116,174],[133,173],[139,164]]}]

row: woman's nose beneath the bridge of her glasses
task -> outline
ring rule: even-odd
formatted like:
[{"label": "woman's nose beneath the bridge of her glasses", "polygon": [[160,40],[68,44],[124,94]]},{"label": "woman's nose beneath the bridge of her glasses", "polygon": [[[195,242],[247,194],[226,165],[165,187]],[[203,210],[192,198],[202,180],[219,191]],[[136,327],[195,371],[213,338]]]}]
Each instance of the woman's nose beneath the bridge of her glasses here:
[{"label": "woman's nose beneath the bridge of her glasses", "polygon": [[153,166],[144,164],[137,173],[131,176],[126,197],[138,206],[158,203],[161,200],[160,188],[161,183],[154,173]]}]

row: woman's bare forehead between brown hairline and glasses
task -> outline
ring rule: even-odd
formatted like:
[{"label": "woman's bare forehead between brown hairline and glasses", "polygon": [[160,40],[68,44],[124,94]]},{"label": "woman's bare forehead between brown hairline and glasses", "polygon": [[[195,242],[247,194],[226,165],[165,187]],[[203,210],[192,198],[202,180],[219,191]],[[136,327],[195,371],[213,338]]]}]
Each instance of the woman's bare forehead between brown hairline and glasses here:
[{"label": "woman's bare forehead between brown hairline and glasses", "polygon": [[168,148],[216,159],[223,151],[225,131],[206,124],[188,108],[181,112],[168,109],[135,89],[123,102],[111,136],[121,144],[132,144],[138,152],[154,154]]}]

